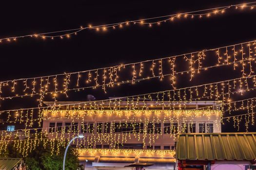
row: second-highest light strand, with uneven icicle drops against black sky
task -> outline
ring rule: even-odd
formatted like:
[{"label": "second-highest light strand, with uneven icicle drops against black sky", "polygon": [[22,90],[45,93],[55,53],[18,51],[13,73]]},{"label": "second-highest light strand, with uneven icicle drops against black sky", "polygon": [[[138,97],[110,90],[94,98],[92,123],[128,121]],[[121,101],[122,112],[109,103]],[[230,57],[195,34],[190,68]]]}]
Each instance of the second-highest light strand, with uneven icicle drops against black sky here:
[{"label": "second-highest light strand, with uneven icicle drops against black sky", "polygon": [[[248,43],[250,44],[250,43],[252,43],[253,42],[253,45],[256,47],[256,42],[255,41],[251,41],[251,42],[246,42],[246,43],[241,43],[241,44],[247,44],[248,45]],[[238,44],[238,45],[240,45],[240,47],[241,47],[241,44]],[[232,46],[226,46],[226,47],[235,47],[236,45],[232,45]],[[251,46],[248,46],[249,48],[251,48]],[[234,59],[234,62],[228,62],[228,63],[222,63],[222,64],[217,64],[217,65],[214,65],[214,66],[212,66],[212,67],[205,67],[204,69],[203,69],[203,67],[201,66],[201,59],[204,59],[204,57],[205,57],[205,52],[206,51],[215,51],[215,50],[218,50],[219,51],[219,49],[221,49],[221,48],[217,48],[217,49],[211,49],[211,50],[204,50],[204,51],[199,51],[199,52],[197,52],[197,54],[198,54],[198,58],[196,59],[196,60],[192,60],[192,59],[189,59],[190,60],[190,62],[191,62],[191,66],[189,67],[190,68],[190,70],[186,70],[186,71],[179,71],[179,72],[176,72],[175,71],[175,69],[174,69],[174,67],[175,67],[175,65],[174,64],[171,64],[170,66],[169,66],[169,68],[172,70],[171,72],[172,73],[170,73],[170,74],[163,74],[162,72],[160,72],[159,73],[159,75],[155,75],[155,72],[154,72],[154,68],[156,67],[155,65],[156,65],[156,63],[155,63],[155,60],[148,60],[148,61],[144,61],[144,62],[151,62],[152,61],[152,68],[151,68],[151,70],[152,70],[152,74],[153,74],[153,76],[152,77],[145,77],[145,78],[140,78],[140,79],[136,79],[135,80],[135,77],[133,76],[133,79],[132,80],[127,80],[127,81],[121,81],[121,80],[119,80],[119,82],[118,82],[118,80],[117,80],[117,78],[118,78],[118,73],[117,73],[117,71],[120,69],[120,68],[124,68],[125,66],[128,66],[128,65],[130,65],[130,64],[127,64],[127,65],[120,65],[120,66],[116,66],[116,67],[111,67],[111,68],[109,68],[108,70],[109,70],[109,77],[105,77],[105,76],[103,76],[103,77],[105,77],[105,78],[102,78],[102,82],[99,84],[98,82],[96,83],[96,86],[98,85],[98,86],[102,86],[102,89],[104,90],[104,92],[106,92],[106,88],[105,88],[105,85],[107,85],[107,86],[110,86],[110,87],[113,87],[114,85],[121,85],[121,84],[126,84],[126,83],[133,83],[133,82],[135,82],[135,81],[142,81],[142,80],[147,80],[147,79],[150,79],[150,78],[162,78],[164,75],[172,75],[172,79],[171,79],[171,82],[172,82],[172,85],[174,86],[174,83],[175,83],[175,74],[177,75],[177,74],[183,74],[183,73],[191,73],[191,78],[194,76],[194,74],[195,74],[195,68],[193,68],[193,66],[194,66],[194,64],[193,63],[196,63],[197,62],[197,64],[198,64],[198,68],[197,68],[197,72],[199,71],[199,70],[207,70],[208,68],[214,68],[214,67],[219,67],[219,66],[227,66],[227,65],[234,65],[234,68],[237,66],[237,64],[239,64],[239,63],[242,63],[242,65],[243,65],[243,68],[241,69],[241,71],[243,72],[243,73],[245,73],[245,68],[244,68],[244,65],[245,65],[245,61],[249,61],[248,63],[250,64],[250,73],[252,74],[253,73],[253,68],[254,67],[252,67],[252,61],[255,61],[255,54],[252,56],[252,54],[250,54],[250,56],[248,57],[248,58],[243,58],[242,60],[240,60],[240,61],[235,61],[235,60],[237,60],[237,59]],[[224,47],[223,47],[223,49],[224,49]],[[250,53],[252,53],[252,51],[250,52]],[[184,56],[184,58],[185,58],[185,60],[188,60],[188,58],[186,58],[186,54],[182,54],[183,56]],[[182,55],[179,55],[179,56],[182,56]],[[190,53],[190,55],[191,55],[191,57],[193,56],[193,54],[192,53]],[[242,54],[243,55],[243,54]],[[176,57],[177,56],[174,56],[174,57],[167,57],[167,58],[162,58],[162,59],[157,59],[156,61],[163,61],[163,59],[168,59],[168,62],[175,62],[175,59],[176,59]],[[234,56],[235,57],[235,56]],[[172,60],[172,61],[170,61],[170,60]],[[133,63],[133,65],[132,66],[135,66],[136,64],[139,64],[139,65],[142,65],[142,62],[138,62],[138,63]],[[144,68],[144,67],[142,67],[142,66],[140,66],[140,70],[138,71],[139,73],[140,73],[140,75],[141,75],[141,72],[142,72],[142,68]],[[98,68],[98,69],[96,69],[95,71],[99,71],[101,68]],[[160,68],[159,68],[160,69]],[[106,68],[103,68],[103,70],[102,71],[104,71],[104,73],[105,73],[105,70],[107,70]],[[135,67],[134,67],[134,70],[135,70]],[[61,76],[61,75],[64,75],[66,78],[64,79],[64,80],[67,80],[67,82],[66,81],[64,81],[64,83],[63,83],[63,87],[64,87],[64,89],[63,90],[60,90],[59,92],[60,93],[64,93],[64,94],[66,94],[66,92],[67,91],[70,91],[70,90],[80,90],[80,89],[84,89],[84,88],[93,88],[93,87],[95,87],[95,85],[93,85],[93,86],[85,86],[85,87],[80,87],[80,88],[71,88],[71,87],[68,87],[68,84],[69,84],[69,81],[70,81],[70,77],[71,77],[71,75],[75,75],[75,74],[79,74],[79,75],[81,75],[81,73],[88,73],[88,80],[86,81],[87,83],[90,83],[92,80],[92,75],[91,75],[91,71],[92,70],[89,70],[89,71],[79,71],[79,72],[73,72],[73,73],[65,73],[65,74],[58,74],[58,75],[54,75],[54,77],[56,78],[56,76]],[[98,72],[97,71],[97,72]],[[135,70],[136,71],[136,70]],[[137,71],[136,71],[137,72]],[[135,72],[133,71],[133,74],[134,74]],[[250,73],[248,73],[248,75],[250,74]],[[97,74],[98,75],[98,74]],[[97,75],[96,75],[96,77],[97,77]],[[115,77],[115,80],[113,80],[113,78],[114,78],[114,75],[116,76]],[[48,76],[48,77],[46,77],[46,79],[48,79],[48,81],[49,81],[49,79],[50,79],[50,77],[52,77],[52,76]],[[53,77],[53,78],[54,78]],[[141,77],[141,76],[140,76]],[[106,83],[105,81],[106,81],[106,79],[110,79],[110,82],[109,83]],[[54,94],[56,94],[56,89],[54,90],[54,91],[47,91],[47,90],[45,90],[45,92],[44,93],[42,93],[42,89],[40,90],[40,92],[36,92],[35,91],[35,83],[36,83],[36,79],[37,78],[28,78],[28,79],[19,79],[19,80],[25,80],[25,81],[28,81],[28,80],[30,80],[30,79],[32,79],[33,80],[33,82],[31,82],[31,86],[33,86],[33,88],[32,87],[30,87],[30,86],[28,86],[28,88],[31,88],[32,89],[32,92],[31,92],[31,94],[29,94],[29,93],[26,93],[26,94],[24,94],[24,95],[18,95],[18,94],[16,94],[15,96],[8,96],[8,97],[4,97],[4,96],[1,96],[1,98],[0,99],[12,99],[12,98],[15,98],[15,97],[24,97],[24,96],[33,96],[33,95],[42,95],[42,94],[49,94],[49,93],[54,93]],[[40,81],[42,81],[42,80],[44,80],[44,77],[39,77],[39,79],[40,79]],[[14,89],[15,89],[15,85],[17,84],[17,81],[19,81],[18,79],[17,80],[13,80],[13,81],[5,81],[5,82],[0,82],[0,88],[1,88],[1,91],[3,92],[3,87],[4,86],[8,86],[8,83],[9,82],[12,82],[13,83],[13,87],[12,87],[12,91],[14,91]],[[95,78],[95,80],[94,81],[98,81],[98,78],[96,79]],[[54,80],[53,80],[54,81]],[[49,82],[50,83],[50,82]],[[54,82],[53,83],[50,83],[50,84],[54,84]],[[42,86],[42,83],[40,82],[40,86]],[[67,95],[67,94],[66,94]],[[41,99],[42,100],[42,99]]]}]

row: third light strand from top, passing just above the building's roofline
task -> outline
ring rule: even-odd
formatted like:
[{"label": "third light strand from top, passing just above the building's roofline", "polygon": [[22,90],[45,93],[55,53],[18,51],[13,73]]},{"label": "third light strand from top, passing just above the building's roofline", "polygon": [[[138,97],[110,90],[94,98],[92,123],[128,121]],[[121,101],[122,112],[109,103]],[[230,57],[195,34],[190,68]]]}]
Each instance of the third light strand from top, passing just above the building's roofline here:
[{"label": "third light strand from top, passing just above the building's roofline", "polygon": [[[135,95],[135,96],[127,96],[127,97],[121,97],[121,98],[115,98],[115,99],[94,101],[94,102],[75,102],[75,103],[68,103],[68,104],[45,106],[45,107],[40,107],[39,108],[39,119],[40,119],[40,121],[43,119],[41,109],[58,108],[58,107],[61,107],[61,106],[70,107],[72,105],[73,106],[75,106],[75,105],[79,105],[79,106],[84,105],[84,109],[89,107],[90,110],[98,110],[98,109],[104,107],[103,104],[106,105],[106,103],[109,103],[108,104],[109,109],[113,109],[112,106],[111,106],[111,105],[113,105],[113,101],[122,101],[122,100],[125,100],[125,99],[127,99],[126,102],[127,102],[127,108],[128,108],[128,105],[131,105],[131,100],[129,101],[129,99],[133,98],[132,101],[137,99],[137,103],[138,103],[139,98],[143,99],[143,97],[145,98],[145,96],[148,96],[148,99],[152,101],[151,95],[156,95],[156,94],[158,94],[158,95],[161,94],[162,99],[164,99],[164,94],[167,93],[168,96],[169,96],[169,100],[173,100],[173,102],[175,103],[177,98],[179,99],[179,101],[181,100],[181,93],[180,93],[181,90],[183,90],[185,92],[185,94],[183,94],[183,97],[190,95],[190,99],[189,99],[188,102],[192,102],[193,100],[201,100],[201,99],[204,99],[204,98],[207,98],[207,99],[215,98],[215,99],[219,100],[219,96],[221,96],[221,95],[222,96],[224,96],[224,95],[230,96],[230,94],[238,94],[238,93],[242,94],[243,92],[254,90],[256,88],[256,83],[255,83],[256,79],[255,79],[255,77],[256,77],[256,75],[252,75],[250,77],[230,79],[230,80],[220,81],[220,82],[215,82],[215,83],[210,83],[210,84],[196,85],[196,86],[184,87],[184,88],[180,88],[180,89],[166,90],[166,91],[160,91],[160,92],[155,92],[155,93],[147,93],[147,94],[141,94],[141,95]],[[234,82],[234,87],[237,83],[245,84],[245,83],[242,83],[242,82],[245,82],[245,81],[247,82],[247,84],[248,84],[248,81],[250,81],[250,86],[249,85],[245,86],[245,89],[242,89],[242,87],[244,87],[244,86],[239,86],[239,89],[237,90],[236,88],[232,88],[232,87],[230,87],[230,85],[228,85],[229,90],[226,90],[225,93],[224,93],[224,90],[219,92],[218,89],[215,89],[215,91],[214,91],[215,93],[213,93],[212,88],[210,88],[210,89],[205,88],[205,86],[212,87],[213,85],[217,86],[218,84],[219,85],[228,84],[228,83],[230,84],[230,82],[232,82],[232,81]],[[197,88],[199,88],[199,87],[204,88],[204,94],[200,94],[200,95],[198,94],[198,89]],[[193,89],[196,90],[196,98],[192,93]],[[231,90],[231,89],[233,89],[234,91]],[[208,90],[208,91],[205,91],[205,90]],[[186,92],[188,92],[188,94]],[[209,96],[205,95],[206,92],[209,93]],[[171,97],[172,97],[171,93],[173,94],[173,99],[171,99]],[[224,100],[224,98],[223,98],[223,100]],[[145,105],[145,100],[143,100],[143,101],[144,101],[144,105]],[[223,102],[225,102],[225,101],[223,101]],[[230,102],[230,98],[228,99],[228,102]],[[93,106],[92,103],[94,103],[94,106]],[[165,105],[165,102],[164,103],[159,102],[159,104]],[[184,105],[186,105],[186,103],[184,103]],[[172,108],[171,104],[169,104],[169,107],[170,107],[170,109]],[[38,107],[26,108],[26,109],[22,108],[22,109],[13,109],[13,110],[2,110],[2,111],[0,111],[0,114],[7,113],[8,118],[10,118],[10,112],[15,112],[16,115],[17,115],[17,113],[20,112],[21,110],[32,110],[33,111],[33,109],[38,109]],[[120,109],[120,104],[117,108],[115,107],[114,109]],[[136,109],[134,105],[133,105],[133,109]],[[175,109],[174,106],[173,106],[173,109]],[[9,119],[7,121],[9,121]],[[14,120],[14,122],[16,122],[16,121],[17,120]]]}]

